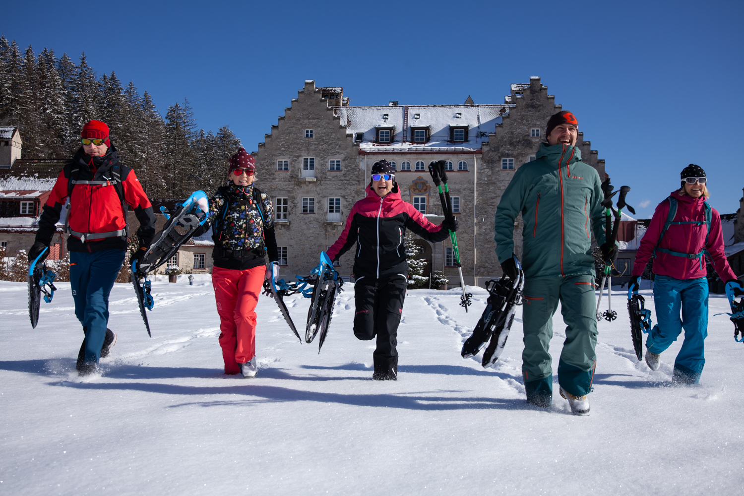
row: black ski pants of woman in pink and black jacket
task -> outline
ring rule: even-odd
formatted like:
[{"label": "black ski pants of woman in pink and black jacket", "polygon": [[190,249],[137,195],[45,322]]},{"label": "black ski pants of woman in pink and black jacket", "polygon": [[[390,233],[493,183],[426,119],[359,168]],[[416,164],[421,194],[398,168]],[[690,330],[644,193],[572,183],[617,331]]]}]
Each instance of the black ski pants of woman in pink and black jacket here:
[{"label": "black ski pants of woman in pink and black jacket", "polygon": [[402,274],[380,279],[361,277],[354,283],[354,335],[362,341],[377,336],[375,362],[398,356],[395,347],[407,287],[408,277]]}]

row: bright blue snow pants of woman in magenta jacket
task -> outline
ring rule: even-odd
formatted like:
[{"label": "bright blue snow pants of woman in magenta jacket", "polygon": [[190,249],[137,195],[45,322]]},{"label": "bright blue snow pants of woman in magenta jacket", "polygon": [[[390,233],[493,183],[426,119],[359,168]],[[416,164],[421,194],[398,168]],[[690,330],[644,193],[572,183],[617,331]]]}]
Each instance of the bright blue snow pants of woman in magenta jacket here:
[{"label": "bright blue snow pants of woman in magenta jacket", "polygon": [[705,366],[703,341],[708,337],[708,279],[656,276],[653,299],[658,323],[649,332],[646,347],[658,355],[677,341],[684,329],[682,349],[674,361],[674,380],[697,384]]}]

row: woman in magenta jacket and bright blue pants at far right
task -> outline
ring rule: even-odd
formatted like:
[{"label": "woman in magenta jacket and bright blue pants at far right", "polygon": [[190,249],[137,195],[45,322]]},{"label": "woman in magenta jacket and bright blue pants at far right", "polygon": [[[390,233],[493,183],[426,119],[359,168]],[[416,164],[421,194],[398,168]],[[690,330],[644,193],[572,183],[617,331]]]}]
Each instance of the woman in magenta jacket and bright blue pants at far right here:
[{"label": "woman in magenta jacket and bright blue pants at far right", "polygon": [[653,295],[658,323],[646,340],[646,363],[651,370],[658,370],[661,352],[670,347],[684,329],[672,382],[697,384],[705,366],[703,341],[708,336],[705,255],[713,261],[713,268],[727,286],[741,287],[741,283],[728,266],[723,251],[721,217],[706,202],[705,170],[690,164],[682,170],[681,179],[682,187],[656,207],[635,256],[630,285],[631,290],[638,289],[646,264],[654,258]]}]

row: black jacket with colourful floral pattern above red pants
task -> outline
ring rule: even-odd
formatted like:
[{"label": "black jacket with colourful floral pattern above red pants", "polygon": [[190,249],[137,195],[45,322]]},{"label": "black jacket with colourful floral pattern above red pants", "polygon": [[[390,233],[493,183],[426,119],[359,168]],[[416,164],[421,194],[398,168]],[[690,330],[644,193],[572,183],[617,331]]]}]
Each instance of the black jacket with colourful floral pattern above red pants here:
[{"label": "black jacket with colourful floral pattern above red pants", "polygon": [[245,187],[230,184],[226,187],[227,195],[222,192],[224,189],[217,190],[209,202],[207,222],[212,226],[222,215],[222,208],[229,203],[225,218],[222,220],[222,232],[214,243],[215,248],[237,251],[266,245],[269,259],[278,260],[275,258],[274,206],[269,195],[260,193],[263,202],[263,209],[260,210],[254,202],[253,184]]}]

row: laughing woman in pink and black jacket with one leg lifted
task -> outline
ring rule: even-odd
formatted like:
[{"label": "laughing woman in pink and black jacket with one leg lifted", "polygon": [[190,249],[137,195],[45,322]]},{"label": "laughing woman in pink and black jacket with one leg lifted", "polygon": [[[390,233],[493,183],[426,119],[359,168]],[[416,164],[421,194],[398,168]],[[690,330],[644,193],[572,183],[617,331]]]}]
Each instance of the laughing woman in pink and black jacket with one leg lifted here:
[{"label": "laughing woman in pink and black jacket with one leg lifted", "polygon": [[440,242],[457,231],[457,219],[434,225],[400,198],[394,166],[376,162],[367,187],[367,197],[356,202],[346,219],[346,227],[327,255],[339,260],[354,243],[353,275],[354,335],[368,341],[377,336],[373,353],[374,373],[378,381],[397,380],[397,332],[403,314],[408,264],[405,262],[403,237],[410,229],[429,242]]}]

